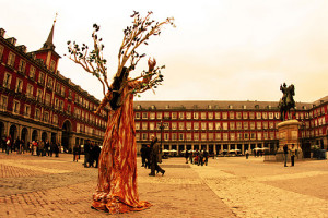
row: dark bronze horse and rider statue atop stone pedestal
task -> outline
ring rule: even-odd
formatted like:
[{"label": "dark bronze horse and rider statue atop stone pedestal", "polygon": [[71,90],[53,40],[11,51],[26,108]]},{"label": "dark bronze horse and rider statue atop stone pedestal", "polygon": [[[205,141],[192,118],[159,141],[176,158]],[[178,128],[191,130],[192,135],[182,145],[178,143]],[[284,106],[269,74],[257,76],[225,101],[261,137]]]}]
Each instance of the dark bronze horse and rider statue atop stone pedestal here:
[{"label": "dark bronze horse and rider statue atop stone pedestal", "polygon": [[285,83],[280,85],[280,90],[283,93],[282,98],[279,101],[278,108],[280,109],[280,119],[282,121],[286,120],[286,116],[290,114],[291,109],[295,110],[295,86],[291,84],[286,87]]}]

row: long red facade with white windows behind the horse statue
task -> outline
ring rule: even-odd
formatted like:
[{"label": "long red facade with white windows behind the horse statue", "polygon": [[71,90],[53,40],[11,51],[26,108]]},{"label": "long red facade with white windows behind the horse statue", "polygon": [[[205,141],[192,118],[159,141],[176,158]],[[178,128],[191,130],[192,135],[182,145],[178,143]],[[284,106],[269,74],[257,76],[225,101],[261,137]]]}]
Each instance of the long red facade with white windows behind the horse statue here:
[{"label": "long red facade with white windows behind the horse statue", "polygon": [[[327,149],[328,97],[316,102],[296,102],[294,119],[301,122],[298,147],[309,156],[311,146]],[[266,148],[279,145],[278,101],[136,101],[138,150],[151,135],[162,140],[162,149],[223,150]]]}]

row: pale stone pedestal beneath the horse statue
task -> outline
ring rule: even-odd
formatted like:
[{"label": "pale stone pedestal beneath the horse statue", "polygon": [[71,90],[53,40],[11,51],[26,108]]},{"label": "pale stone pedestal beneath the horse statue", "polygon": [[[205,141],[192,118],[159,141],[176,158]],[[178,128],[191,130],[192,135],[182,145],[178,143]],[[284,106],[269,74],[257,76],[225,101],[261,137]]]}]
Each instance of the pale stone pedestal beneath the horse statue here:
[{"label": "pale stone pedestal beneath the horse statue", "polygon": [[[286,120],[278,124],[279,148],[276,154],[276,161],[283,161],[283,146],[288,145],[289,149],[294,144],[297,149],[296,159],[303,157],[302,149],[298,145],[298,128],[301,122],[297,120]],[[290,159],[290,156],[289,156]]]}]

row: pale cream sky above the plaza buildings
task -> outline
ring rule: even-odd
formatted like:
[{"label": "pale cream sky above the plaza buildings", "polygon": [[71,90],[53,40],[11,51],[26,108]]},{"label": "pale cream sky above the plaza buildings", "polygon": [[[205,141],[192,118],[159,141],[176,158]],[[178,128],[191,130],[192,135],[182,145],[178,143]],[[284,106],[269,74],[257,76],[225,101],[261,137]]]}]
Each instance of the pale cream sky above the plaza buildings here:
[{"label": "pale cream sky above the plaza buildings", "polygon": [[[327,0],[11,0],[1,8],[0,27],[27,51],[43,46],[58,12],[59,71],[98,99],[101,83],[63,56],[67,41],[91,46],[97,23],[113,77],[133,10],[153,11],[156,21],[174,16],[177,26],[165,27],[139,49],[166,69],[156,94],[144,93],[138,100],[278,101],[283,82],[295,85],[296,101],[328,95]],[[132,76],[143,69],[147,59]]]}]

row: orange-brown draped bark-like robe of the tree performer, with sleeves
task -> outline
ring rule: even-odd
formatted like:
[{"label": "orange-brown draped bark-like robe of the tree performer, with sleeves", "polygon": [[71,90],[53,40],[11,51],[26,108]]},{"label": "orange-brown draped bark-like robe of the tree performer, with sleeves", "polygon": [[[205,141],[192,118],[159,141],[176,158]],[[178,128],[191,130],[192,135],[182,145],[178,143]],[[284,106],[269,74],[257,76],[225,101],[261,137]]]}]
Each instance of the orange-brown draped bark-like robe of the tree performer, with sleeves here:
[{"label": "orange-brown draped bark-like robe of the tree performer, with sleeves", "polygon": [[[121,92],[121,104],[110,111],[98,166],[98,184],[92,206],[110,214],[143,210],[152,206],[139,201],[137,190],[137,142],[133,94],[127,93],[148,81],[128,82]],[[108,92],[101,107],[113,98]]]}]

